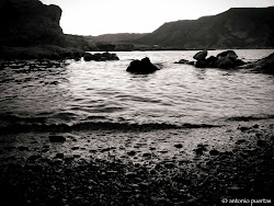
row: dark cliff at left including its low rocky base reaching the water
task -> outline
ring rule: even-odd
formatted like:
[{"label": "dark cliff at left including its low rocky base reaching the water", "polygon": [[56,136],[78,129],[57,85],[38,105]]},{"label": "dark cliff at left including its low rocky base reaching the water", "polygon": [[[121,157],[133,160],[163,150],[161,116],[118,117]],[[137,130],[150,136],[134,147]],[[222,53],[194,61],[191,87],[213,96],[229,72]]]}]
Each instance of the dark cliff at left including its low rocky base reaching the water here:
[{"label": "dark cliff at left including its low rocky base reaching the water", "polygon": [[60,18],[59,7],[39,0],[1,0],[0,59],[79,59],[92,45],[66,36]]}]

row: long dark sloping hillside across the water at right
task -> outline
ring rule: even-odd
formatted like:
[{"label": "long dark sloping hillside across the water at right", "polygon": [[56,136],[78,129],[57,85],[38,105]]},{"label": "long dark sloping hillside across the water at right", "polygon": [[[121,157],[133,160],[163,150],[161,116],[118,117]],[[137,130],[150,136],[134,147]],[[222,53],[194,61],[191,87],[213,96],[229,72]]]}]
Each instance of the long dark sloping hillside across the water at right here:
[{"label": "long dark sloping hillside across the water at right", "polygon": [[179,49],[273,48],[274,7],[237,8],[198,20],[164,23],[130,43]]}]

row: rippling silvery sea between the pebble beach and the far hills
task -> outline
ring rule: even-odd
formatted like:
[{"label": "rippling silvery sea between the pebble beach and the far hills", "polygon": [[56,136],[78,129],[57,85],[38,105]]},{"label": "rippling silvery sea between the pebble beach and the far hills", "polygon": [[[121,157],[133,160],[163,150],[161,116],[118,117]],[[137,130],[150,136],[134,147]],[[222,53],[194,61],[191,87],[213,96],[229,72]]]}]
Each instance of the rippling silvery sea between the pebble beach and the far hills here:
[{"label": "rippling silvery sea between the pebble beach and the far hills", "polygon": [[[222,50],[209,50],[216,56]],[[255,61],[274,49],[236,49]],[[116,52],[116,61],[9,61],[0,68],[2,131],[176,128],[274,116],[274,77],[248,69],[195,68],[196,50]],[[126,71],[149,57],[160,70]],[[46,61],[46,64],[45,64]]]}]

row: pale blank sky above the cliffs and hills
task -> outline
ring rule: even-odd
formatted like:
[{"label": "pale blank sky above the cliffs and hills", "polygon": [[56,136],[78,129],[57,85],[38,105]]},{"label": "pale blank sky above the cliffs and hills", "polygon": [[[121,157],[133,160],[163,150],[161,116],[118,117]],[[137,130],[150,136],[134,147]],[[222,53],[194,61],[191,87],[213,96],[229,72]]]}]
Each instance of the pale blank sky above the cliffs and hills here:
[{"label": "pale blank sky above the cliffs and hills", "polygon": [[62,10],[66,34],[150,33],[165,22],[195,20],[230,8],[273,7],[274,0],[41,0]]}]

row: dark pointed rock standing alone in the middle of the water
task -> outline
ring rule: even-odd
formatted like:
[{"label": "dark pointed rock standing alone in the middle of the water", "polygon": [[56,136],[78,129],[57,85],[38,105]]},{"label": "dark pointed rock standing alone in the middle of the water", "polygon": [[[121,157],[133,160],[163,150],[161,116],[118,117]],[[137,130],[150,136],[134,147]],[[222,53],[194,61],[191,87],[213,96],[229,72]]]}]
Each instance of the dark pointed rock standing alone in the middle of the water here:
[{"label": "dark pointed rock standing alone in the middle of the water", "polygon": [[159,70],[153,64],[150,62],[148,57],[141,60],[134,60],[127,67],[126,71],[138,75],[148,75]]}]

